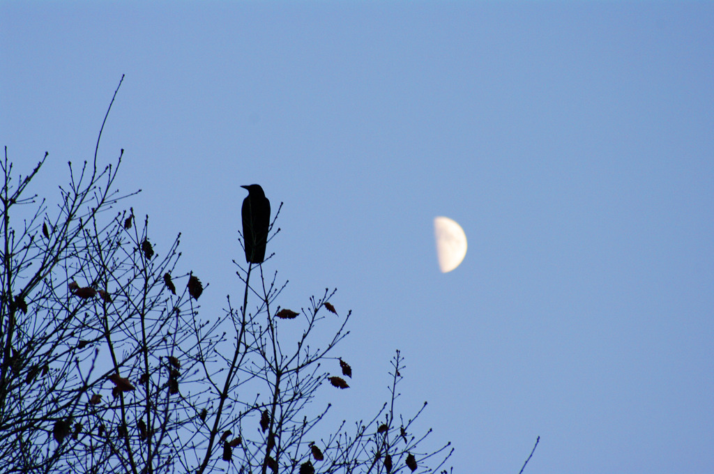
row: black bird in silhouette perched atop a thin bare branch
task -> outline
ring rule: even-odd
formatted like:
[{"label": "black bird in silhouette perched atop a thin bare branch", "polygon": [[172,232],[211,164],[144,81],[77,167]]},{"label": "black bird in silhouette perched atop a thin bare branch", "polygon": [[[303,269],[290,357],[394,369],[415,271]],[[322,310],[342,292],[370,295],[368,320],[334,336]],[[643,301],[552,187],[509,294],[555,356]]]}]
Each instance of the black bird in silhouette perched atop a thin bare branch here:
[{"label": "black bird in silhouette perched atop a thin bare branch", "polygon": [[241,186],[248,190],[243,200],[243,242],[246,244],[246,262],[263,263],[266,258],[270,201],[259,184]]}]

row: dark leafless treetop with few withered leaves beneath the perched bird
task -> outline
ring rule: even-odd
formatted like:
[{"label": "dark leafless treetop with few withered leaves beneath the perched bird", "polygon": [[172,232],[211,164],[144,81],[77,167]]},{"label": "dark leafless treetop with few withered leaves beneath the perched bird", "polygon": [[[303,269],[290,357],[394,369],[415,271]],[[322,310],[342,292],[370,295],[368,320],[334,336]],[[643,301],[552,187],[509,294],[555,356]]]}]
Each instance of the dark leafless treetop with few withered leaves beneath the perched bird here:
[{"label": "dark leafless treetop with few withered leaves beneath the perched bird", "polygon": [[121,207],[139,192],[116,191],[122,154],[69,163],[56,207],[28,196],[47,155],[25,177],[0,161],[0,472],[446,472],[452,448],[418,434],[426,403],[398,413],[399,352],[376,415],[327,425],[318,394],[352,376],[336,291],[293,311],[277,273],[236,263],[238,306],[199,318],[208,286],[178,270],[180,235],[152,242],[149,218]]}]

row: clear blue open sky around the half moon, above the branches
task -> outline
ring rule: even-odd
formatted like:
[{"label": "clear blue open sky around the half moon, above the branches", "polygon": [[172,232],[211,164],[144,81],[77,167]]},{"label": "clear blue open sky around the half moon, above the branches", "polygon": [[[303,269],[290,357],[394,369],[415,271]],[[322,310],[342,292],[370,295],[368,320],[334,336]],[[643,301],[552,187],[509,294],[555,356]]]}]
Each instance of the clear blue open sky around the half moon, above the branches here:
[{"label": "clear blue open sky around the half moon, above the branches", "polygon": [[[714,468],[714,4],[0,3],[0,138],[37,192],[124,148],[155,246],[236,294],[241,184],[283,201],[282,306],[337,287],[367,418],[458,472]],[[432,220],[468,237],[438,271]]]}]

